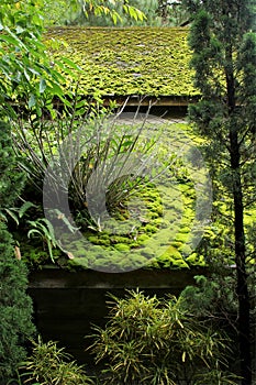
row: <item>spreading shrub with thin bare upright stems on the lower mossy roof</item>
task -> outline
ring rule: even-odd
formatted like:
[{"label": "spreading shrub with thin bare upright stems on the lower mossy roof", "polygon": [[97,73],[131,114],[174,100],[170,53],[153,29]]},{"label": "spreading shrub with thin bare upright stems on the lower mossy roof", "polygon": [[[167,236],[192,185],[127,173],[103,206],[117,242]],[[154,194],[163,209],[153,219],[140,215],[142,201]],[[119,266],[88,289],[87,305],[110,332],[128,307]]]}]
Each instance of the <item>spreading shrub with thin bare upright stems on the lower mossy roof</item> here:
[{"label": "spreading shrub with thin bare upright stems on the lower mossy roof", "polygon": [[118,209],[136,188],[152,182],[147,169],[154,174],[155,167],[156,176],[168,166],[167,162],[154,163],[160,132],[148,138],[144,135],[145,121],[127,125],[118,118],[84,118],[75,106],[66,119],[20,121],[13,127],[21,167],[41,191],[45,176],[51,179],[48,201],[58,201],[58,191],[68,195],[71,212],[84,229],[99,229],[105,206],[109,212]]}]

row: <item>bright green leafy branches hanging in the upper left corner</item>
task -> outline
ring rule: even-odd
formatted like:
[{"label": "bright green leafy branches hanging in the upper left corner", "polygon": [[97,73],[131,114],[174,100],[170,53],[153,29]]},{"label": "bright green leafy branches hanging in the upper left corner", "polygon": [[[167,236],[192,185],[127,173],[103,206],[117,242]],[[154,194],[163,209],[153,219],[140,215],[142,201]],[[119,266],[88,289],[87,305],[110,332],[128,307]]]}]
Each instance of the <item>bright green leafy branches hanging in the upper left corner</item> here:
[{"label": "bright green leafy branches hanging in the upper left corner", "polygon": [[1,1],[0,116],[9,120],[54,113],[56,98],[69,105],[67,77],[71,84],[80,73],[71,59],[53,62],[43,42],[43,4],[44,0]]}]

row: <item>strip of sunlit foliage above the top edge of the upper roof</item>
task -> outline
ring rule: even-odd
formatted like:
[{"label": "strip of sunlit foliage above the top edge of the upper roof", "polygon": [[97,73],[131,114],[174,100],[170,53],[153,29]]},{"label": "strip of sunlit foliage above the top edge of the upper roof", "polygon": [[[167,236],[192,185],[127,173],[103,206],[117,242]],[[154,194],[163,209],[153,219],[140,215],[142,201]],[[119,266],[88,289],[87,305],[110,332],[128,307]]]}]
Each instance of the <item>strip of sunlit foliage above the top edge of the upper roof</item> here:
[{"label": "strip of sunlit foliage above the top edge of the upper roof", "polygon": [[180,0],[43,0],[46,25],[180,25],[188,14]]}]

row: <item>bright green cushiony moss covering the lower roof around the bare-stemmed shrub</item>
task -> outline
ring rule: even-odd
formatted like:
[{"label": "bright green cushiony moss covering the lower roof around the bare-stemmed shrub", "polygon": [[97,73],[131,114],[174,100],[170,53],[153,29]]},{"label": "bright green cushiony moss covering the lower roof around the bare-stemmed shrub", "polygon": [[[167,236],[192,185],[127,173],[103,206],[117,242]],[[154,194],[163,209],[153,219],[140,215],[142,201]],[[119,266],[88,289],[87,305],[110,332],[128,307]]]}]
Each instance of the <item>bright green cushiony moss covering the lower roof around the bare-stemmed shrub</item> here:
[{"label": "bright green cushiony moss covering the lower roof around the bare-stemmed shrub", "polygon": [[[149,123],[149,129],[151,125],[154,129],[154,124]],[[137,132],[136,128],[134,129]],[[115,127],[115,140],[119,138],[116,130],[118,127]],[[27,222],[19,228],[16,239],[21,254],[31,267],[37,268],[49,263],[48,245],[52,249],[52,260],[57,265],[70,270],[189,268],[205,266],[208,261],[220,252],[226,264],[234,263],[230,252],[230,243],[233,242],[232,228],[226,228],[220,221],[211,222],[210,211],[205,218],[209,223],[203,224],[197,217],[200,215],[199,202],[203,204],[205,200],[207,205],[211,206],[209,191],[204,194],[203,190],[201,193],[197,190],[197,185],[203,186],[208,169],[204,165],[201,168],[196,164],[191,166],[189,157],[194,148],[200,148],[204,144],[204,141],[196,136],[187,123],[164,121],[162,125],[157,124],[156,131],[159,136],[157,160],[160,165],[166,165],[164,175],[157,176],[152,183],[145,184],[142,180],[131,196],[109,210],[110,218],[107,222],[103,221],[101,224],[101,220],[99,222],[96,220],[90,223],[82,217],[81,210],[75,210],[73,216],[82,237],[77,238],[73,232],[64,231],[58,239],[63,250],[56,248],[57,240],[46,222],[41,221],[44,227],[36,228],[41,233],[32,231],[30,239],[27,239],[27,231],[30,232]],[[31,140],[33,142],[33,138]],[[45,154],[48,152],[49,143],[51,141],[45,141]],[[53,153],[56,153],[56,145],[57,143],[52,144]],[[137,151],[140,145],[138,143]],[[187,152],[185,157],[177,156],[181,148]],[[87,164],[86,154],[84,160]],[[88,162],[88,167],[97,167],[98,161],[94,161],[94,164],[92,158],[89,158]],[[88,175],[87,170],[85,173]],[[126,188],[125,186],[121,184],[119,188]],[[37,205],[38,201],[34,200],[33,204]],[[230,205],[229,199],[214,202],[213,211],[218,208],[226,216]],[[40,216],[42,217],[38,209],[32,208],[33,210],[30,224],[31,220],[36,221]],[[246,215],[248,229],[252,228],[255,217],[256,210],[251,210]],[[201,230],[203,233],[200,234]],[[194,246],[197,237],[201,243],[196,242]],[[254,261],[249,258],[249,262]]]}]

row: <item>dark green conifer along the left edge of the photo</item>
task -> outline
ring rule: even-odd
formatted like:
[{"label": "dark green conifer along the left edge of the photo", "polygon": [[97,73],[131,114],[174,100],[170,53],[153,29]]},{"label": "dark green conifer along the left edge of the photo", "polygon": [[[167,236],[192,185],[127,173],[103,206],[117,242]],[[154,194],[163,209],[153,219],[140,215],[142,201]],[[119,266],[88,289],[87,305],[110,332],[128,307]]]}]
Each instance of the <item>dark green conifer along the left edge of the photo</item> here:
[{"label": "dark green conifer along the left edge of the photo", "polygon": [[11,130],[0,122],[0,383],[5,384],[24,359],[23,342],[33,334],[32,301],[26,295],[27,271],[14,258],[14,244],[1,210],[14,204],[22,187],[15,170]]}]

